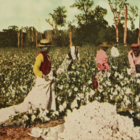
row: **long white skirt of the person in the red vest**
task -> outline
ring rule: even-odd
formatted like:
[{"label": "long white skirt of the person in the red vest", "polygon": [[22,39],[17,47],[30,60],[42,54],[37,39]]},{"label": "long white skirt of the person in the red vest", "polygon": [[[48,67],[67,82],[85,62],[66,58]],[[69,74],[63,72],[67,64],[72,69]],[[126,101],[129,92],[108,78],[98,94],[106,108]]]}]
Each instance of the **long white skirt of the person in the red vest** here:
[{"label": "long white skirt of the person in the red vest", "polygon": [[33,109],[41,107],[42,109],[56,110],[53,72],[48,74],[49,80],[37,77],[35,86],[24,99],[23,103],[15,105],[14,109],[18,112],[26,112],[30,106]]}]

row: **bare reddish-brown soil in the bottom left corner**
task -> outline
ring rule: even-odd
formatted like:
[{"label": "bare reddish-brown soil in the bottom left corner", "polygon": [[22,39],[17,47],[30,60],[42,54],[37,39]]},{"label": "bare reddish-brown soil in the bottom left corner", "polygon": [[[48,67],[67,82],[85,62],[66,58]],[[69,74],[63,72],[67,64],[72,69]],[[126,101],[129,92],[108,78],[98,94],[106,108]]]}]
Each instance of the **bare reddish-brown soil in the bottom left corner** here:
[{"label": "bare reddish-brown soil in the bottom left corner", "polygon": [[54,127],[64,123],[64,120],[52,120],[44,124],[36,124],[30,128],[21,127],[2,127],[0,128],[0,140],[42,140],[41,138],[34,138],[28,135],[31,133],[33,127],[46,128]]}]

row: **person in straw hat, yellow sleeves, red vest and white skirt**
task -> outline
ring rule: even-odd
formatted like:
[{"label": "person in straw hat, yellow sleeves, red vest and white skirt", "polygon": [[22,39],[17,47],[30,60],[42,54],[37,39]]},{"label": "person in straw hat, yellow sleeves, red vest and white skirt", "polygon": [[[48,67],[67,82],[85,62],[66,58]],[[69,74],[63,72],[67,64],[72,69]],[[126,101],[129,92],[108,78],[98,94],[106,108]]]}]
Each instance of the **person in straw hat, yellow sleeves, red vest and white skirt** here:
[{"label": "person in straw hat, yellow sleeves, red vest and white skirt", "polygon": [[15,106],[16,111],[25,112],[29,103],[34,109],[41,106],[43,109],[56,110],[53,71],[48,55],[51,46],[51,42],[47,39],[42,39],[37,46],[40,52],[33,68],[37,76],[36,83],[24,102]]}]

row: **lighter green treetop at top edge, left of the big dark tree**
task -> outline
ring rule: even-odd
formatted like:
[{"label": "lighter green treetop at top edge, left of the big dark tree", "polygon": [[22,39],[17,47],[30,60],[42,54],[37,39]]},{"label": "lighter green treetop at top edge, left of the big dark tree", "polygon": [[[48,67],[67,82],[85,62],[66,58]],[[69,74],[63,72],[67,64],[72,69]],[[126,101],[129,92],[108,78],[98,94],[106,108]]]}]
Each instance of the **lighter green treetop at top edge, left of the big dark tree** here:
[{"label": "lighter green treetop at top edge, left of the big dark tree", "polygon": [[75,17],[78,20],[79,25],[87,24],[89,13],[91,12],[91,8],[94,5],[93,0],[76,0],[76,2],[71,5],[71,8],[77,8],[78,10],[82,11],[82,14],[76,15]]}]

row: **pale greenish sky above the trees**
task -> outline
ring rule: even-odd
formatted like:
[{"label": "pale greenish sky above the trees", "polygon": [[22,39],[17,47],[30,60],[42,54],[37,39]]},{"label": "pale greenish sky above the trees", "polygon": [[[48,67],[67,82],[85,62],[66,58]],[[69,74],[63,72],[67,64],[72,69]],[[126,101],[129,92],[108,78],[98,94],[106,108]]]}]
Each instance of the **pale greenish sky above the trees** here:
[{"label": "pale greenish sky above the trees", "polygon": [[[45,21],[50,18],[49,13],[58,6],[65,6],[67,10],[67,21],[73,21],[74,16],[81,13],[70,5],[76,0],[0,0],[0,31],[8,29],[9,26],[16,25],[19,28],[34,26],[38,31],[50,30],[52,27]],[[140,0],[128,0],[131,5],[140,7]],[[110,10],[108,0],[94,0],[93,10],[96,6],[107,9],[105,19],[109,25],[113,24],[113,13]],[[135,27],[139,26],[137,17]],[[75,23],[73,23],[75,24]],[[128,22],[130,28],[130,23]],[[66,27],[64,27],[66,28]]]}]

